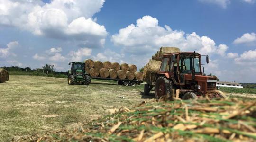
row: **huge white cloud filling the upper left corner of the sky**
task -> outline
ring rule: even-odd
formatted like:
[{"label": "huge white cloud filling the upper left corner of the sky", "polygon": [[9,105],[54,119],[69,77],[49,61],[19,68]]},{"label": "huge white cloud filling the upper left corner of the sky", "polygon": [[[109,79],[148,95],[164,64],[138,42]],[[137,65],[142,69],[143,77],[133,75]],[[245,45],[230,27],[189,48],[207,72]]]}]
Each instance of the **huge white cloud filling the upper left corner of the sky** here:
[{"label": "huge white cloud filling the upper left corner of the sky", "polygon": [[92,16],[105,0],[0,0],[0,24],[28,30],[35,35],[77,40],[102,47],[107,31]]}]

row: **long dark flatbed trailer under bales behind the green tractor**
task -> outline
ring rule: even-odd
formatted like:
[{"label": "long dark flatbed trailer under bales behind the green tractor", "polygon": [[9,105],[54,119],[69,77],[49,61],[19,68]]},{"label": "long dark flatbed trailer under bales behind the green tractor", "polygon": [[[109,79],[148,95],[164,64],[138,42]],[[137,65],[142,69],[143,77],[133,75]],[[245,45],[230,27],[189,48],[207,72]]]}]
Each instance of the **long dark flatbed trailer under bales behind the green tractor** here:
[{"label": "long dark flatbed trailer under bales behind the green tractor", "polygon": [[91,79],[96,79],[96,80],[113,80],[117,81],[118,85],[124,85],[124,86],[135,86],[136,84],[140,85],[140,83],[143,82],[143,80],[128,80],[128,79],[113,79],[113,78],[102,78],[102,77],[92,77]]}]

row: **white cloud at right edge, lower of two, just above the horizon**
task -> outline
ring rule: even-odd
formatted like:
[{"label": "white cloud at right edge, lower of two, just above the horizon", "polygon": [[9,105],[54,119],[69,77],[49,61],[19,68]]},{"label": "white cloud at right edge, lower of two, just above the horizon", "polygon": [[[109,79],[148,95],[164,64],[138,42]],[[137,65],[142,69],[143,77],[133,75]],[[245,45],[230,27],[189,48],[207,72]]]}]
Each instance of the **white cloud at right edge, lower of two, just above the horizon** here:
[{"label": "white cloud at right edge, lower of two, just above the horizon", "polygon": [[240,57],[235,58],[235,63],[240,65],[256,65],[256,49],[245,51]]}]

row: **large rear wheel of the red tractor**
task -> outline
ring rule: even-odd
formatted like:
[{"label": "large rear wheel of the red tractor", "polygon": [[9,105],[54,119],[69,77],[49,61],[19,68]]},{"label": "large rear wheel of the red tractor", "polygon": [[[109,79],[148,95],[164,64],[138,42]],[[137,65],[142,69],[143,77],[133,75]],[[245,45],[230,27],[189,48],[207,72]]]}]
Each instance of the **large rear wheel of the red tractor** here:
[{"label": "large rear wheel of the red tractor", "polygon": [[155,81],[155,98],[159,99],[162,96],[172,96],[172,82],[167,80],[164,76],[160,76]]}]

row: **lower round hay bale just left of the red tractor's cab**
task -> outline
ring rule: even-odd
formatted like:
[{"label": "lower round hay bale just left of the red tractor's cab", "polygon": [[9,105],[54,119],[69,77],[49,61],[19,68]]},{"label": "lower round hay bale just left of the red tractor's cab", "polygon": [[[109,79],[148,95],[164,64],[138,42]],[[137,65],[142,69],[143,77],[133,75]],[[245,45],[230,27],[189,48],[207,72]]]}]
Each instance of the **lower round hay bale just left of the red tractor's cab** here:
[{"label": "lower round hay bale just left of the red tractor's cab", "polygon": [[155,74],[159,71],[160,66],[161,66],[161,61],[156,61],[156,60],[150,60],[148,64],[146,65],[146,70],[144,68],[144,78],[143,80],[149,81],[151,78],[151,74]]}]

